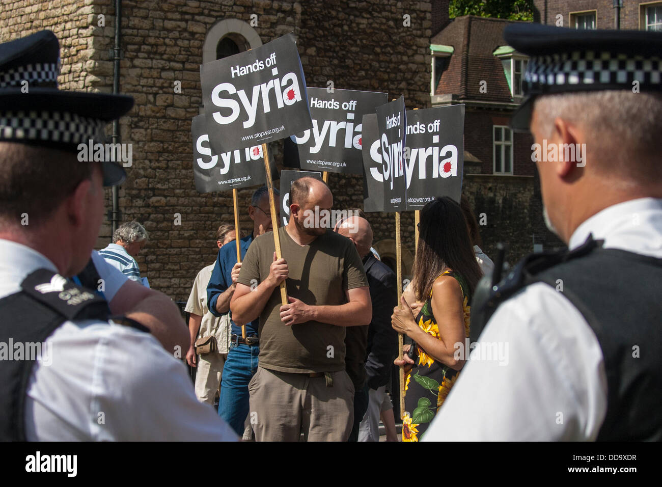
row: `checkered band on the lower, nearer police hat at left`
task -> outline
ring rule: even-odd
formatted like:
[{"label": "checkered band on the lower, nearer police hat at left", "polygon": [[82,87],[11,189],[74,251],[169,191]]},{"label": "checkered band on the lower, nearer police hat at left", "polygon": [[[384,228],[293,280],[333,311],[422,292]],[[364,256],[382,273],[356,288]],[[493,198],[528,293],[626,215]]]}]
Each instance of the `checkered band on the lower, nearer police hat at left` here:
[{"label": "checkered band on the lower, nearer police hat at left", "polygon": [[0,112],[0,140],[37,140],[62,144],[105,140],[105,122],[60,111]]}]

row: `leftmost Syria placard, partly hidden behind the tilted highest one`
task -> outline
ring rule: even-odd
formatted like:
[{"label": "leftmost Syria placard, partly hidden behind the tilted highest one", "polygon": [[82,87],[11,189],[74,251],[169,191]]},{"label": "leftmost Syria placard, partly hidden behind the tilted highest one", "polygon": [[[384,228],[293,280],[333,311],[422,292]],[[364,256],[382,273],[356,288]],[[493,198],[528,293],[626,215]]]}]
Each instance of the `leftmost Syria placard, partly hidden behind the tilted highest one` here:
[{"label": "leftmost Syria placard, partly hidden behind the tilted highest one", "polygon": [[[193,117],[191,135],[193,136],[193,179],[195,189],[201,193],[265,184],[261,145],[216,154],[209,146],[204,114]],[[271,174],[276,174],[273,158],[269,157],[269,161]]]}]

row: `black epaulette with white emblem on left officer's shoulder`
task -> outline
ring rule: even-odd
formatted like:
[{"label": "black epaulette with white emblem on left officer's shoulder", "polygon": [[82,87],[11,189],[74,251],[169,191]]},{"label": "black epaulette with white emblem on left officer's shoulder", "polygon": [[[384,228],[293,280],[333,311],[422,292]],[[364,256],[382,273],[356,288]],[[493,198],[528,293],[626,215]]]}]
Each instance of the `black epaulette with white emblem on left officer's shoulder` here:
[{"label": "black epaulette with white emblem on left officer's shoulder", "polygon": [[110,314],[105,299],[52,270],[35,270],[23,280],[21,289],[65,319],[106,320]]}]

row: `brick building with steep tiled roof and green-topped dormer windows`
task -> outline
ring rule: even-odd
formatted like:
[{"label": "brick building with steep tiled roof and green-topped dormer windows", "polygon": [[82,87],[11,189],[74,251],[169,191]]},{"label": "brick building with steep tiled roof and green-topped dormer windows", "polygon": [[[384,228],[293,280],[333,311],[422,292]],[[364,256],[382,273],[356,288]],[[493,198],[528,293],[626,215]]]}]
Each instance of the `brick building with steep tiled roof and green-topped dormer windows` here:
[{"label": "brick building with steep tiled roof and green-topped dormer windows", "polygon": [[433,25],[440,30],[430,40],[431,104],[465,104],[463,192],[481,224],[483,250],[494,256],[496,243],[504,242],[512,263],[534,248],[562,246],[542,218],[532,136],[508,128],[522,100],[527,60],[503,39],[513,22],[473,15],[448,19],[449,2],[439,3],[444,8]]}]

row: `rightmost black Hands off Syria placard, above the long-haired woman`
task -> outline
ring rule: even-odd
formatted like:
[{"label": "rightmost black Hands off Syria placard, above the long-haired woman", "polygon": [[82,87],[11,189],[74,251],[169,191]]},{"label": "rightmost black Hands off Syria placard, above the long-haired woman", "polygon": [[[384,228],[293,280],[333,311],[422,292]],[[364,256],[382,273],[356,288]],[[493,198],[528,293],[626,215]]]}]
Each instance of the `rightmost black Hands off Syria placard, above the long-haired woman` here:
[{"label": "rightmost black Hands off Syria placard, above the long-haired woman", "polygon": [[406,209],[421,209],[437,196],[459,203],[464,164],[465,105],[407,112]]}]

